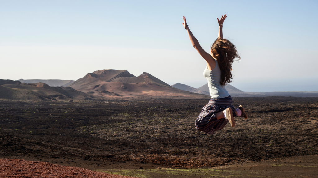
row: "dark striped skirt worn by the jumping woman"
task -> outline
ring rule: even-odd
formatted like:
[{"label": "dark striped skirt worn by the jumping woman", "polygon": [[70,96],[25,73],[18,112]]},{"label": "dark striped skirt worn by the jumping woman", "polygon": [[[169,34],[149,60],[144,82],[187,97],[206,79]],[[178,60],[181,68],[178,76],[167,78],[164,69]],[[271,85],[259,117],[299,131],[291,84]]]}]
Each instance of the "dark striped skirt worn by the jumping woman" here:
[{"label": "dark striped skirt worn by the jumping woman", "polygon": [[205,105],[195,121],[195,127],[197,130],[204,131],[208,134],[213,134],[217,130],[222,130],[229,122],[225,118],[217,119],[216,113],[224,111],[226,108],[232,108],[233,116],[235,114],[235,108],[232,106],[232,97],[210,99],[209,103]]}]

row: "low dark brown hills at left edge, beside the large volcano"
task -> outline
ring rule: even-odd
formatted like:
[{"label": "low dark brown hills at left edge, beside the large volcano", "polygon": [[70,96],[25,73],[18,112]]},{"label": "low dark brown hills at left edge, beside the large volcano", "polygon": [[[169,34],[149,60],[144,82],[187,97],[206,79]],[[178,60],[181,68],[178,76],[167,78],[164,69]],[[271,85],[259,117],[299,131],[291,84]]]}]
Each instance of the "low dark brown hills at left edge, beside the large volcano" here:
[{"label": "low dark brown hills at left edge, beside the large volcano", "polygon": [[65,100],[92,99],[93,96],[77,91],[64,90],[61,87],[45,83],[26,84],[14,80],[0,80],[0,98],[13,100]]}]

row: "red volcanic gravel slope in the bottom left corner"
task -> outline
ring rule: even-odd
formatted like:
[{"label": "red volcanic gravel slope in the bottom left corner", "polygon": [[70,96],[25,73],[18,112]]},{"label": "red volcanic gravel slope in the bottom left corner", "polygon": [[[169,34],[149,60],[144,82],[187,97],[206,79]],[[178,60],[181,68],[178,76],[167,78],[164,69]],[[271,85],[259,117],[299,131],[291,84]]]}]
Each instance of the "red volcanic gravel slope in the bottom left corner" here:
[{"label": "red volcanic gravel slope in the bottom left corner", "polygon": [[61,166],[48,162],[26,161],[21,159],[0,159],[0,177],[25,178],[133,178],[122,175],[106,174],[84,168]]}]

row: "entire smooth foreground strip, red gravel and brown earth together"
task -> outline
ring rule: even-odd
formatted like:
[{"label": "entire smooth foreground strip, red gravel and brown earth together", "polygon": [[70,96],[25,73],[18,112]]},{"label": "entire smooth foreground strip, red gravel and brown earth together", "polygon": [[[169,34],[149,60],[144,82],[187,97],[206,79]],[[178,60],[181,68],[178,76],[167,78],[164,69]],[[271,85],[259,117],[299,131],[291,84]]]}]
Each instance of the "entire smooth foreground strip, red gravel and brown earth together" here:
[{"label": "entire smooth foreground strip, red gravel and brown earth together", "polygon": [[[99,172],[97,172],[99,171]],[[214,168],[106,169],[92,171],[48,162],[0,159],[0,177],[107,177],[208,178],[208,177],[318,177],[318,156],[294,156],[260,162],[245,162]]]}]

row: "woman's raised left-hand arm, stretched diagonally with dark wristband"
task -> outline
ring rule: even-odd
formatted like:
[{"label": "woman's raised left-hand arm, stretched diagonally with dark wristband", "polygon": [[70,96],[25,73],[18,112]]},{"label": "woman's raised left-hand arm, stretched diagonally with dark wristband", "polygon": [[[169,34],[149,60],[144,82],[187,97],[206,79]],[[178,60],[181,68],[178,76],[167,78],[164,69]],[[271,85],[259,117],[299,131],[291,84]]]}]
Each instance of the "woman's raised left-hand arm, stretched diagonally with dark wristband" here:
[{"label": "woman's raised left-hand arm, stretched diagonally with dark wristband", "polygon": [[197,52],[199,52],[199,54],[206,60],[206,62],[208,63],[208,66],[209,67],[211,66],[209,70],[211,70],[211,68],[213,69],[215,67],[215,60],[212,58],[212,56],[209,53],[205,52],[204,49],[201,47],[201,45],[199,44],[199,41],[197,41],[197,39],[194,37],[194,35],[190,31],[187,25],[187,20],[185,19],[184,16],[183,16],[183,22],[184,23],[182,23],[182,25],[188,32],[192,46],[196,48]]}]

